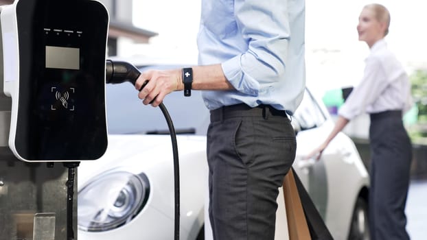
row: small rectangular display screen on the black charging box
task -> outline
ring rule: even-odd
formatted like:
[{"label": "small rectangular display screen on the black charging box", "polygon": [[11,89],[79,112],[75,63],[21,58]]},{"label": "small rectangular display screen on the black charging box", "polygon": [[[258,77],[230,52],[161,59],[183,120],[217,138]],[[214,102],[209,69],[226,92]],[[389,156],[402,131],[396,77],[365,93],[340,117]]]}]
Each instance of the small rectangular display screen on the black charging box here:
[{"label": "small rectangular display screen on the black charging box", "polygon": [[80,69],[80,49],[46,46],[46,68]]}]

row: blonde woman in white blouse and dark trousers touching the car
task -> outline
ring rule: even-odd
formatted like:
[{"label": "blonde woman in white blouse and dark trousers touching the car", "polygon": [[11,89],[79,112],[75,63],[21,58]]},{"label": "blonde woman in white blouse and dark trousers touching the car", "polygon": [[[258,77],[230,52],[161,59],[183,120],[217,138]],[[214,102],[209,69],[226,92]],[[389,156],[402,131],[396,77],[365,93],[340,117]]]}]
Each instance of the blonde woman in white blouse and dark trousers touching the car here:
[{"label": "blonde woman in white blouse and dark trousers touching the car", "polygon": [[409,239],[404,208],[412,158],[411,141],[402,123],[402,112],[411,106],[408,77],[384,37],[389,32],[390,14],[379,4],[366,5],[357,26],[359,40],[370,54],[360,84],[338,112],[334,130],[308,158],[321,153],[345,125],[362,112],[371,118],[371,189],[369,226],[371,239]]}]

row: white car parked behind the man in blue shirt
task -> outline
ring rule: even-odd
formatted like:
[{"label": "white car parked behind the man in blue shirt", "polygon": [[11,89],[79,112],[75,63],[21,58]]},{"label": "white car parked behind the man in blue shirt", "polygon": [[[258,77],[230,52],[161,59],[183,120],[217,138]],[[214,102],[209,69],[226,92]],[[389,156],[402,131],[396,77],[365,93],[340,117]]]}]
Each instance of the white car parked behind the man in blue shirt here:
[{"label": "white car parked behind the man in blue shirt", "polygon": [[[174,166],[165,118],[159,108],[141,104],[128,83],[107,85],[106,99],[107,152],[78,167],[78,239],[173,239]],[[205,216],[209,111],[198,91],[192,97],[171,93],[163,103],[178,134],[180,239],[209,239]],[[297,131],[294,169],[334,239],[369,239],[369,176],[354,143],[338,134],[321,160],[302,160],[333,128],[323,104],[308,91],[292,124]],[[278,200],[276,239],[283,239],[287,235],[283,195]]]}]

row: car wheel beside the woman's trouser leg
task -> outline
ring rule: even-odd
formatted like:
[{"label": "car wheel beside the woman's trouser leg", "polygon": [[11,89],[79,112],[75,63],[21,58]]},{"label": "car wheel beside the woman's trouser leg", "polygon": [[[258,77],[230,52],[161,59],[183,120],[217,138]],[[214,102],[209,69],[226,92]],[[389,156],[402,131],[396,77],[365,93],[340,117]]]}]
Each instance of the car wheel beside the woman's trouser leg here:
[{"label": "car wheel beside the woman's trouser leg", "polygon": [[365,199],[358,197],[354,206],[349,240],[369,240],[368,204]]}]

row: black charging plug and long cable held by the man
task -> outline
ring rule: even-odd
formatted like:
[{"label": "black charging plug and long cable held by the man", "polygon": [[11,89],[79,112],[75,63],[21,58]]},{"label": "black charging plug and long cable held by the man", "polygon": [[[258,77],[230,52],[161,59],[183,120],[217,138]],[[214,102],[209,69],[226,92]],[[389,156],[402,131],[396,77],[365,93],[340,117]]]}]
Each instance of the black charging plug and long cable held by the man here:
[{"label": "black charging plug and long cable held by the man", "polygon": [[[137,81],[141,72],[129,62],[122,61],[113,61],[106,60],[106,83],[107,84],[121,84],[123,82],[130,82],[133,86],[135,86],[135,82]],[[144,82],[139,91],[146,86],[148,81]],[[168,128],[170,132],[170,138],[172,140],[172,152],[174,155],[174,184],[175,184],[175,217],[174,217],[174,239],[179,239],[179,161],[178,161],[178,144],[176,142],[176,133],[174,124],[172,123],[172,119],[169,115],[168,110],[165,108],[163,103],[159,104],[159,108],[163,115],[165,116],[165,120],[168,123]]]}]

